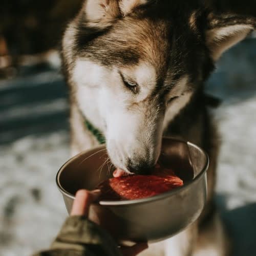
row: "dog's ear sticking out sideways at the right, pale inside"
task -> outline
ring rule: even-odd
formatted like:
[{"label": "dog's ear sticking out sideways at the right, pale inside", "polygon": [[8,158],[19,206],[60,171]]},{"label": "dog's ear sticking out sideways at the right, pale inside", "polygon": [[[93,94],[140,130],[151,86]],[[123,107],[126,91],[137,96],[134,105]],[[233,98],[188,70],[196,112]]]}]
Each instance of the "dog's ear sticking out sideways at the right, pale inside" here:
[{"label": "dog's ear sticking out sideways at the right, pale inside", "polygon": [[243,40],[253,29],[256,29],[255,17],[209,13],[205,35],[212,59],[218,60],[224,51]]}]

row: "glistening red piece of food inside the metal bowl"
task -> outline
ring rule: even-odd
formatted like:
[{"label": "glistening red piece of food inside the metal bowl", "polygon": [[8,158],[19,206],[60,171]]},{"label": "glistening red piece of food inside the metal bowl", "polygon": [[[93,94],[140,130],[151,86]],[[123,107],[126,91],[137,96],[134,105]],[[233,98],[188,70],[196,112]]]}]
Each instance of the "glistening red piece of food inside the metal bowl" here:
[{"label": "glistening red piece of food inside the metal bowl", "polygon": [[111,178],[98,185],[100,200],[133,200],[152,197],[183,185],[170,169],[156,167],[152,175]]}]

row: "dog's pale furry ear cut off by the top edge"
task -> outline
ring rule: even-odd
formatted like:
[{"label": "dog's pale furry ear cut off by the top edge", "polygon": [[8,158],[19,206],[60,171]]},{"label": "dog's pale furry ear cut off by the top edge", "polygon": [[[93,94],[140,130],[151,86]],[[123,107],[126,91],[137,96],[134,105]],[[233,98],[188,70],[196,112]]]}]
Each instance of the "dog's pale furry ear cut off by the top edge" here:
[{"label": "dog's pale furry ear cut off by the top edge", "polygon": [[83,10],[91,27],[106,28],[122,16],[131,13],[136,7],[152,0],[87,0]]}]

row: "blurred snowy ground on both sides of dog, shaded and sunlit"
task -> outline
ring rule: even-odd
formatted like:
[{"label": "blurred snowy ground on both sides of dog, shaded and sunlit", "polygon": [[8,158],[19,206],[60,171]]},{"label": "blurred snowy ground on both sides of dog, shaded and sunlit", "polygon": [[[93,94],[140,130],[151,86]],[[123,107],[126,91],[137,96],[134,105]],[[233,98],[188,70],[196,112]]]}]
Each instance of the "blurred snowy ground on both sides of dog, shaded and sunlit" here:
[{"label": "blurred snowy ground on both sides of dog, shaded and sunlit", "polygon": [[[234,256],[255,256],[256,40],[221,59],[207,91],[225,99],[215,116],[222,136],[217,202]],[[67,90],[49,67],[0,81],[0,254],[48,247],[66,217],[55,186],[69,157]],[[31,74],[33,73],[33,74]]]}]

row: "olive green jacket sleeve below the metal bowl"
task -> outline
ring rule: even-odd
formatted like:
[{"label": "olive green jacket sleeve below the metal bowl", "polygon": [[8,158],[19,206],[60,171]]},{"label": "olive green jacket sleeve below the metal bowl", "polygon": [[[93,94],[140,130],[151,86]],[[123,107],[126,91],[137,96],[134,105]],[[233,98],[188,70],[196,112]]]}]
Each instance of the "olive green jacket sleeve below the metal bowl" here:
[{"label": "olive green jacket sleeve below the metal bowl", "polygon": [[33,256],[121,256],[115,241],[97,224],[71,216],[63,224],[49,250]]}]

